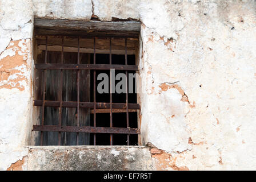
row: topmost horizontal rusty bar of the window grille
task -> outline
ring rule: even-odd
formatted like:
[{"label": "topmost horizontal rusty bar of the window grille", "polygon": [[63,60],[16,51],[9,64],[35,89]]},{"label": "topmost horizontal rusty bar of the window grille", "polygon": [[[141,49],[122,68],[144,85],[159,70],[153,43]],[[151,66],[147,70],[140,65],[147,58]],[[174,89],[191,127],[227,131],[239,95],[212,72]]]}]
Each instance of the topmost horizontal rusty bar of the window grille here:
[{"label": "topmost horizontal rusty bar of the window grille", "polygon": [[99,70],[131,70],[138,71],[137,65],[119,64],[35,64],[35,69],[99,69]]}]

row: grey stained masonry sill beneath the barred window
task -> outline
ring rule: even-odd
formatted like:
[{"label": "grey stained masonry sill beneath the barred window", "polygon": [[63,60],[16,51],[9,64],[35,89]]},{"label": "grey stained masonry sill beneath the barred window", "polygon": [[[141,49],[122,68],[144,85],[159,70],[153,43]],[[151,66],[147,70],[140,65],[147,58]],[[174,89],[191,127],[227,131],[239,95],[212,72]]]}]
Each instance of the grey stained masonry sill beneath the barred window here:
[{"label": "grey stained masonry sill beneath the barred window", "polygon": [[29,147],[29,170],[152,170],[148,148],[139,146]]}]

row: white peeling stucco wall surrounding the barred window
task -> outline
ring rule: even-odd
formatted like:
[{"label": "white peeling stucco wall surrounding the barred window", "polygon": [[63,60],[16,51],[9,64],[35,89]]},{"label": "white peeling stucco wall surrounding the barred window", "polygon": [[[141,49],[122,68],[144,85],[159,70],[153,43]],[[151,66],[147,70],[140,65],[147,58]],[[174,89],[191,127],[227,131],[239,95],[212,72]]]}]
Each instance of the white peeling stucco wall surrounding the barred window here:
[{"label": "white peeling stucco wall surrounding the barred window", "polygon": [[[169,155],[152,155],[156,163],[159,155],[170,160],[158,169],[256,169],[255,9],[255,1],[1,1],[0,53],[13,49],[11,39],[29,43],[22,39],[31,38],[33,12],[42,18],[138,19],[139,74],[146,90],[139,94],[142,144],[151,142]],[[25,80],[32,74],[15,70]],[[29,126],[25,80],[0,89],[0,144],[8,147],[13,140],[26,144],[23,133],[5,137],[6,130]],[[22,154],[14,152],[0,169],[18,160]]]}]

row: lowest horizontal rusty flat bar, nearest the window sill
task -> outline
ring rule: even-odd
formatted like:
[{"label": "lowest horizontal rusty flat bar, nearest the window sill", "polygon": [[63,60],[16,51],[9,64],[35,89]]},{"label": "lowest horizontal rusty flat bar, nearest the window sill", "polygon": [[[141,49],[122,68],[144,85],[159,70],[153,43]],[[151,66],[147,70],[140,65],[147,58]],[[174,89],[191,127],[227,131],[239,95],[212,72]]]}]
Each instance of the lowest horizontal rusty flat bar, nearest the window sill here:
[{"label": "lowest horizontal rusty flat bar, nearest the window sill", "polygon": [[91,126],[54,126],[33,125],[33,131],[58,131],[79,133],[111,133],[111,134],[141,134],[139,129],[119,127],[91,127]]}]

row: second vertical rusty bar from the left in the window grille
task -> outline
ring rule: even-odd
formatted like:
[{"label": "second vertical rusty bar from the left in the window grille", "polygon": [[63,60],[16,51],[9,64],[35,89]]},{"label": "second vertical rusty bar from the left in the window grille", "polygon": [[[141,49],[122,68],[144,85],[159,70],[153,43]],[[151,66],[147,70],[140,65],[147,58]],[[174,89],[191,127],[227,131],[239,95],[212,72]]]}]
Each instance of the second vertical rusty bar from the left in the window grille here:
[{"label": "second vertical rusty bar from the left in the window grille", "polygon": [[[62,37],[62,49],[61,49],[61,64],[64,62],[64,37]],[[61,113],[62,113],[62,88],[63,88],[63,69],[61,69],[61,86],[59,88],[59,100],[61,101],[59,104],[59,126],[61,126]],[[58,134],[58,145],[61,145],[61,132]]]}]

